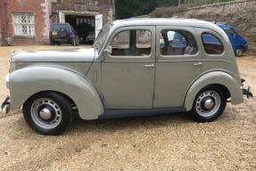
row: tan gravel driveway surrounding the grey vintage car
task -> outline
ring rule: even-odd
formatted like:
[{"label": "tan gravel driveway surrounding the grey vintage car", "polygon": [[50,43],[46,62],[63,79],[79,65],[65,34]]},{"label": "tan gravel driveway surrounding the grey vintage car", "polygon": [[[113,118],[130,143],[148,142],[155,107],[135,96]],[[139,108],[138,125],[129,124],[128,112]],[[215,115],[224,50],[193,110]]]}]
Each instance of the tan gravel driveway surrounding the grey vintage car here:
[{"label": "tan gravel driveway surrounding the grey vintage car", "polygon": [[[72,47],[71,48],[77,48]],[[11,49],[0,47],[0,101]],[[85,48],[79,46],[79,48]],[[87,47],[86,47],[87,48]],[[256,57],[236,58],[256,94]],[[196,123],[188,113],[85,121],[75,118],[64,134],[36,134],[21,110],[0,116],[2,170],[256,170],[256,100],[227,104],[221,117]]]}]

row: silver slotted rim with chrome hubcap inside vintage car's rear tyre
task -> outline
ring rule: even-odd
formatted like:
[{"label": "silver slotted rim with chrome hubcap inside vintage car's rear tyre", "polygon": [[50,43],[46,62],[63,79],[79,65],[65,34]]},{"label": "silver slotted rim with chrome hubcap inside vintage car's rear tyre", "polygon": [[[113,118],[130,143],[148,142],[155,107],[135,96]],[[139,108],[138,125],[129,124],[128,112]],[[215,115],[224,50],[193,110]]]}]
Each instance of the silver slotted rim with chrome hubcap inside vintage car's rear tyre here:
[{"label": "silver slotted rim with chrome hubcap inside vintage car's rear tyre", "polygon": [[195,109],[202,117],[211,117],[220,107],[220,96],[215,91],[206,91],[198,96]]}]

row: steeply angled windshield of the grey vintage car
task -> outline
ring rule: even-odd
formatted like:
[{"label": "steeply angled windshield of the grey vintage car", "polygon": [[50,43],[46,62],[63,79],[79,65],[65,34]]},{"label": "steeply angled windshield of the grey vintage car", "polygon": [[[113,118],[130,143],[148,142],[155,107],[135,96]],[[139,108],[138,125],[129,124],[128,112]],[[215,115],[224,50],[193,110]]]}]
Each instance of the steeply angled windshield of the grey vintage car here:
[{"label": "steeply angled windshield of the grey vintage car", "polygon": [[106,38],[108,37],[109,35],[109,32],[110,32],[110,29],[111,29],[111,26],[108,24],[106,26],[104,26],[101,31],[99,32],[98,36],[96,37],[95,39],[95,43],[94,43],[94,47],[95,49],[100,52],[103,48],[103,44],[106,40]]}]

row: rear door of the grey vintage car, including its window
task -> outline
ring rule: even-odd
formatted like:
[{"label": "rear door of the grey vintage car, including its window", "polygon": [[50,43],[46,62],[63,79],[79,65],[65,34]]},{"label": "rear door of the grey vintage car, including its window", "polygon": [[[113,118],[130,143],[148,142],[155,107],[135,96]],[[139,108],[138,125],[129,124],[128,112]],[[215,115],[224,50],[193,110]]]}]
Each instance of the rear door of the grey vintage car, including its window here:
[{"label": "rear door of the grey vintage car, including its window", "polygon": [[182,107],[186,91],[201,74],[202,47],[194,28],[159,26],[156,33],[164,45],[156,41],[153,108]]}]

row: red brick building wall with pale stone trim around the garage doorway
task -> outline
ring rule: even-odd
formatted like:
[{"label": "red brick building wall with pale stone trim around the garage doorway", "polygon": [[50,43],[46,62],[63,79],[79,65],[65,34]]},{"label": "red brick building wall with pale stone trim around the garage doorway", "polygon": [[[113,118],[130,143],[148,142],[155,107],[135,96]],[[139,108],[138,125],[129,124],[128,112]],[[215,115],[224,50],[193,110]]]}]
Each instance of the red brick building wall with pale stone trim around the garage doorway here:
[{"label": "red brick building wall with pale stone trim around the garage doorway", "polygon": [[[52,9],[75,11],[74,4],[85,4],[85,12],[103,14],[103,25],[113,20],[114,0],[6,0],[11,45],[45,45],[48,44],[49,30],[54,21]],[[57,2],[57,1],[56,1]],[[34,37],[14,36],[13,15],[29,13],[34,15]],[[1,39],[2,37],[2,39]],[[7,28],[4,12],[4,0],[0,0],[0,45],[7,45]]]}]

